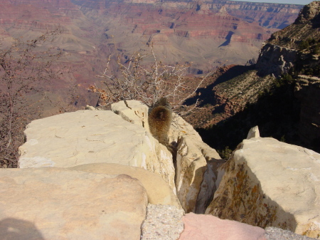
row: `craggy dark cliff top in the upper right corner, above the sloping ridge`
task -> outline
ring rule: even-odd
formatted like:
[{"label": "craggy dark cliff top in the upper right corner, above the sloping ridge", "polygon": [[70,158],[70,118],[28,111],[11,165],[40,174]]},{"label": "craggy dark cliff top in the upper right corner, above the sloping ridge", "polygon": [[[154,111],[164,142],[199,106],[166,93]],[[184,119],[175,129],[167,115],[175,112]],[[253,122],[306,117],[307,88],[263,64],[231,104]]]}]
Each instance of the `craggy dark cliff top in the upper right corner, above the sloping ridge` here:
[{"label": "craggy dark cliff top in the upper right corner, above the sloping ridge", "polygon": [[[293,24],[272,34],[260,51],[257,71],[260,75],[274,74],[276,77],[301,68],[319,65],[319,53],[311,51],[319,43],[320,4],[313,1],[304,6]],[[304,47],[303,41],[314,39],[311,46]],[[309,43],[308,43],[309,45]]]}]

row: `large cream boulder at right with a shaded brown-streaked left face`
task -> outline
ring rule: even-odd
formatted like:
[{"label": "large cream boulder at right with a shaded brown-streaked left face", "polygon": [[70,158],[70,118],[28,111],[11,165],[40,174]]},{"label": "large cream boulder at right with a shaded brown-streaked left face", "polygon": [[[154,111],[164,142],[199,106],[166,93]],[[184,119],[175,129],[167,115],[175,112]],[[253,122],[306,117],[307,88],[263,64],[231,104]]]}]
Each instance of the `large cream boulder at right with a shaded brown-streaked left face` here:
[{"label": "large cream boulder at right with a shaded brown-streaked left face", "polygon": [[320,155],[270,137],[243,140],[222,168],[206,214],[320,234]]}]

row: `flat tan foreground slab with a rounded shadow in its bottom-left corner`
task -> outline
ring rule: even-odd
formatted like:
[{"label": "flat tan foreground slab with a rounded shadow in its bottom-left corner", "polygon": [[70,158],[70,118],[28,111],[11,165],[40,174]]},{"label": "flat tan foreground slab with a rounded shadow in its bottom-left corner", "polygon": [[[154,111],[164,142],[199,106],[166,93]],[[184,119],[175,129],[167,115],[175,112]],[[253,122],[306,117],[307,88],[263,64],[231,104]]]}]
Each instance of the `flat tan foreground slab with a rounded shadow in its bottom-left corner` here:
[{"label": "flat tan foreground slab with a rounded shadow in its bottom-left corner", "polygon": [[140,239],[146,190],[127,175],[0,169],[0,239]]}]

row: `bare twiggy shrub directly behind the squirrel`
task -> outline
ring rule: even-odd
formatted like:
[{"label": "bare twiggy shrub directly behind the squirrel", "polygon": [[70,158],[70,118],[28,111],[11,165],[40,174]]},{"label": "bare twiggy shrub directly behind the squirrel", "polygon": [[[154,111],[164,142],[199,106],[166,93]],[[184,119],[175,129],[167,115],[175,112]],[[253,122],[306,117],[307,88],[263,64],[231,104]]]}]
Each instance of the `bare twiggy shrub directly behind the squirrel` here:
[{"label": "bare twiggy shrub directly behind the squirrel", "polygon": [[[117,54],[116,65],[119,72],[110,69],[112,56],[109,56],[107,67],[102,75],[98,75],[105,80],[102,83],[105,88],[91,85],[90,90],[100,95],[99,105],[108,106],[119,100],[140,100],[149,107],[156,103],[161,97],[166,97],[174,110],[181,112],[181,108],[187,112],[183,102],[196,93],[203,78],[196,88],[191,88],[186,83],[184,74],[189,65],[181,66],[166,65],[157,61],[153,47],[149,46],[150,53],[142,55],[139,52],[132,54],[127,61],[122,63]],[[149,66],[143,65],[144,58],[151,56],[152,63]],[[193,106],[195,108],[196,106]]]}]

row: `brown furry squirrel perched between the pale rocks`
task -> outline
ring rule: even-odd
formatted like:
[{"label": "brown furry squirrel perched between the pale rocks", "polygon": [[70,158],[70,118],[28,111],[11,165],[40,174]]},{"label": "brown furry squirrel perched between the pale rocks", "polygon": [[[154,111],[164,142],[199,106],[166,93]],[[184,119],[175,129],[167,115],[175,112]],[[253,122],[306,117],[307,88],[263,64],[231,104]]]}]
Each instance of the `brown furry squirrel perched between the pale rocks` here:
[{"label": "brown furry squirrel perched between the pale rocks", "polygon": [[169,146],[169,129],[172,120],[172,109],[166,98],[160,98],[149,112],[149,129],[151,134],[165,146]]}]

